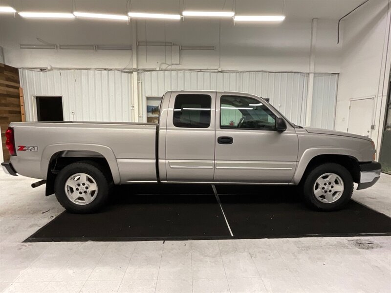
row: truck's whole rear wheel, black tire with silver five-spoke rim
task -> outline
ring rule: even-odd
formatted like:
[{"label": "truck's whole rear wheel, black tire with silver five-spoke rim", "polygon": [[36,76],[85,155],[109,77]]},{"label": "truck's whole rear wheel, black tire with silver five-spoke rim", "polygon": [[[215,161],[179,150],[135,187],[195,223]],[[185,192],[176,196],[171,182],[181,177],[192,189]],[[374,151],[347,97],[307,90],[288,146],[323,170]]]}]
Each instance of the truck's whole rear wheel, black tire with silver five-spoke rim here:
[{"label": "truck's whole rear wheel, black tire with silver five-spoke rim", "polygon": [[82,161],[60,171],[54,182],[54,191],[57,200],[67,211],[92,213],[106,203],[110,184],[98,164]]}]

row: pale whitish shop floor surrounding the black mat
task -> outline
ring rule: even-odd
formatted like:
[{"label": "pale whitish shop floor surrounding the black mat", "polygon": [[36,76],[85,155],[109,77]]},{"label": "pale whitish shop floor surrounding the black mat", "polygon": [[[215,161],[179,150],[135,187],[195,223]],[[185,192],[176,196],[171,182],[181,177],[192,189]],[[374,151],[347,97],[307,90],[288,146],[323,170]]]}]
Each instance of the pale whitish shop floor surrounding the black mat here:
[{"label": "pale whitish shop floor surrounding the black mat", "polygon": [[[0,292],[391,292],[391,237],[21,243],[63,211],[0,170]],[[391,216],[391,176],[353,199]]]}]

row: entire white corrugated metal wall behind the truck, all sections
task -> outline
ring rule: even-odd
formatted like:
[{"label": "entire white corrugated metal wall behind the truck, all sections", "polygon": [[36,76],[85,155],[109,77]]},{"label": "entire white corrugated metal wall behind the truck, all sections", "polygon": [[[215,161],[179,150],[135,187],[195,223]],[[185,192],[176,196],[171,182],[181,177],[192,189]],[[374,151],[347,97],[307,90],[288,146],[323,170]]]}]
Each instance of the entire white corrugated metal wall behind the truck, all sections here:
[{"label": "entire white corrugated metal wall behind the truck, all sections", "polygon": [[[131,73],[101,70],[20,69],[27,121],[36,120],[35,96],[62,96],[64,119],[71,121],[137,121],[131,117]],[[304,125],[308,74],[282,72],[141,72],[140,120],[147,121],[146,97],[172,89],[231,90],[269,98],[293,123]],[[332,129],[338,74],[315,74],[311,126]],[[137,99],[134,101],[137,107]],[[74,112],[74,114],[72,114]]]}]

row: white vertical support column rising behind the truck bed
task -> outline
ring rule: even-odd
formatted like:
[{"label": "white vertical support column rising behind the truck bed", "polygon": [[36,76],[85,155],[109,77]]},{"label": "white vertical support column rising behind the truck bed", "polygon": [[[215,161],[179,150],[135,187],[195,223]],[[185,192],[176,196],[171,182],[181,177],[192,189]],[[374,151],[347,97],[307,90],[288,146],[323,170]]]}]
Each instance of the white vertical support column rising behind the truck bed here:
[{"label": "white vertical support column rising behind the truck bed", "polygon": [[[132,62],[133,70],[137,70],[137,21],[131,19],[131,50],[132,50]],[[138,82],[137,82],[137,71],[132,73],[132,110],[133,110],[133,122],[139,121],[139,98],[138,98]]]}]

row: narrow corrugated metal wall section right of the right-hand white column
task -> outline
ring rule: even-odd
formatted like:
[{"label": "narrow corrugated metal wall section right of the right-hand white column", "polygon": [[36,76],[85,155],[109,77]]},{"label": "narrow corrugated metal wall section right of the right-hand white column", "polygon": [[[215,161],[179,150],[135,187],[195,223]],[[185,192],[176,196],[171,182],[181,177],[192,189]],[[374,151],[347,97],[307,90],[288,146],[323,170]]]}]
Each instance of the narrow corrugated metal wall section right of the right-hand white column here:
[{"label": "narrow corrugated metal wall section right of the right-hand white column", "polygon": [[311,127],[334,129],[338,74],[314,74]]}]

